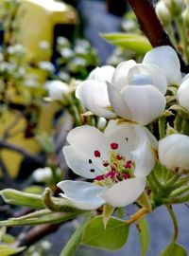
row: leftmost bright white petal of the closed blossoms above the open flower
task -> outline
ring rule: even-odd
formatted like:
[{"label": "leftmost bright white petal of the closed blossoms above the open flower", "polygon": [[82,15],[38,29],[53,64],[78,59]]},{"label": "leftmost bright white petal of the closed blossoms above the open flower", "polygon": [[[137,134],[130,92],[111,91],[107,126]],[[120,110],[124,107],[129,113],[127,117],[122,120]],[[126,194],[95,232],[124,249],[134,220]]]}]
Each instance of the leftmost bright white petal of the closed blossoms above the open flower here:
[{"label": "leftmost bright white petal of the closed blossoms above the open flower", "polygon": [[106,82],[87,80],[78,84],[76,97],[95,115],[103,118],[114,118],[115,114],[107,108],[111,107]]}]

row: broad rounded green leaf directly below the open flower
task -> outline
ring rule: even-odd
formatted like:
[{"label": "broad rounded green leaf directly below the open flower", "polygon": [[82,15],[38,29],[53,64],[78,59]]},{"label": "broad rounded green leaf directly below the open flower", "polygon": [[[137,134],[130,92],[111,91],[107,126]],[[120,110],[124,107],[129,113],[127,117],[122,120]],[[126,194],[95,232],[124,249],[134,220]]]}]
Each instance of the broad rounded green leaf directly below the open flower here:
[{"label": "broad rounded green leaf directly below the open flower", "polygon": [[96,216],[84,230],[82,243],[86,246],[114,250],[126,244],[128,235],[129,226],[125,221],[112,217],[105,229],[103,217]]}]

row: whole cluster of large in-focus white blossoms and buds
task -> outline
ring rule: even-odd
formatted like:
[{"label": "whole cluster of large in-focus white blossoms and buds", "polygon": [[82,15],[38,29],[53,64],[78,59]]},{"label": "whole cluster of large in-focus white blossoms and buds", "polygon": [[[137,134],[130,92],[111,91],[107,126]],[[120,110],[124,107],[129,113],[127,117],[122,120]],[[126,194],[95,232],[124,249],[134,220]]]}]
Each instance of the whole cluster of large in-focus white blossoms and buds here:
[{"label": "whole cluster of large in-focus white blossoms and buds", "polygon": [[159,46],[141,64],[129,60],[115,68],[96,67],[80,82],[77,99],[92,115],[110,120],[103,132],[90,125],[69,132],[63,148],[67,165],[93,182],[61,181],[60,195],[83,210],[106,203],[124,207],[145,191],[156,161],[171,170],[188,170],[189,137],[174,133],[158,141],[147,128],[163,117],[170,86],[180,86],[178,104],[189,111],[189,76],[182,77],[175,50]]}]

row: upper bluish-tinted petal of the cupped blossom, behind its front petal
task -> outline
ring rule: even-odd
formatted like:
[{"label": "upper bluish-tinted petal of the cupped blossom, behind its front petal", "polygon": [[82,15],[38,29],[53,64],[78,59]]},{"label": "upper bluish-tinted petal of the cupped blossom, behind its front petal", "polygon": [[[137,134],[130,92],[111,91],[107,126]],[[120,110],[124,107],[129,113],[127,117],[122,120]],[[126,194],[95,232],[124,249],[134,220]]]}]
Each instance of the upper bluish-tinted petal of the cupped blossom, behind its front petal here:
[{"label": "upper bluish-tinted petal of the cupped blossom, behind its front petal", "polygon": [[152,84],[163,95],[166,92],[167,82],[162,70],[155,64],[136,64],[129,69],[128,81],[130,85]]}]

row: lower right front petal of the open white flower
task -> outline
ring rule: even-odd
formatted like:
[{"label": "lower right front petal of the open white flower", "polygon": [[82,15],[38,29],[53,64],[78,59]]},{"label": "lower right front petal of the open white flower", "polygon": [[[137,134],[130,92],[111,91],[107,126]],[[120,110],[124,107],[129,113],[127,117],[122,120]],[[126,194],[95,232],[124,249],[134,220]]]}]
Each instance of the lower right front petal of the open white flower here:
[{"label": "lower right front petal of the open white flower", "polygon": [[146,178],[130,178],[116,183],[100,197],[113,207],[124,207],[135,202],[145,187]]}]

